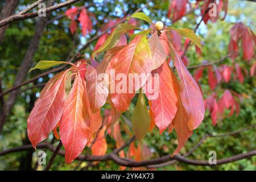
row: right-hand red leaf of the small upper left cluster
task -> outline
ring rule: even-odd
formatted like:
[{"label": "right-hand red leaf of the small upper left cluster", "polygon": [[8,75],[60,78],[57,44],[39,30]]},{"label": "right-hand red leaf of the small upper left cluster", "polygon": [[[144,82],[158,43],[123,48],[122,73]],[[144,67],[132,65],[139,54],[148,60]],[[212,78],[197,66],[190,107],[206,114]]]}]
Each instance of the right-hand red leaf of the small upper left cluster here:
[{"label": "right-hand red leaf of the small upper left cluster", "polygon": [[86,9],[82,9],[80,11],[78,20],[82,25],[82,35],[85,36],[92,30],[92,20],[90,19]]}]

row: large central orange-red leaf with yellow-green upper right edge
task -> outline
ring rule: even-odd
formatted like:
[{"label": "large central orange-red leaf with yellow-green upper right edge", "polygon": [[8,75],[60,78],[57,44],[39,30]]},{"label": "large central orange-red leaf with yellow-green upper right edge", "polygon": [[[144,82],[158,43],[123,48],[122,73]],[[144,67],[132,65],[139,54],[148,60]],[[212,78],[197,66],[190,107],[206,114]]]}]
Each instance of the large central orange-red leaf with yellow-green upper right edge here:
[{"label": "large central orange-red leaf with yellow-green upper right edge", "polygon": [[[128,109],[135,91],[146,82],[148,73],[152,71],[151,59],[150,47],[144,35],[134,38],[113,57],[111,68],[115,75],[122,76],[110,83],[110,98],[118,111]],[[142,75],[141,79],[130,77],[129,73],[137,77]]]}]

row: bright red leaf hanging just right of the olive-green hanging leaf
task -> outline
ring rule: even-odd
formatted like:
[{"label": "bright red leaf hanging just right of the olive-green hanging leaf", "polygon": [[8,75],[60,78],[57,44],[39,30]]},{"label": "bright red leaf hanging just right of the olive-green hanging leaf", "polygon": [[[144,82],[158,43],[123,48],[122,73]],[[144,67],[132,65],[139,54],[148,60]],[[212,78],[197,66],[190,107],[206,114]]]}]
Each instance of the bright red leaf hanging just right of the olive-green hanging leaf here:
[{"label": "bright red leaf hanging just right of the olive-green hanging leaf", "polygon": [[[148,100],[151,101],[152,116],[158,126],[160,133],[170,125],[177,111],[177,96],[175,94],[174,74],[168,64],[164,62],[159,68],[151,72],[143,90],[146,92]],[[158,74],[158,75],[155,75]],[[156,81],[155,81],[156,79]],[[156,82],[156,85],[154,85]],[[148,86],[158,92],[158,97],[151,99]]]}]

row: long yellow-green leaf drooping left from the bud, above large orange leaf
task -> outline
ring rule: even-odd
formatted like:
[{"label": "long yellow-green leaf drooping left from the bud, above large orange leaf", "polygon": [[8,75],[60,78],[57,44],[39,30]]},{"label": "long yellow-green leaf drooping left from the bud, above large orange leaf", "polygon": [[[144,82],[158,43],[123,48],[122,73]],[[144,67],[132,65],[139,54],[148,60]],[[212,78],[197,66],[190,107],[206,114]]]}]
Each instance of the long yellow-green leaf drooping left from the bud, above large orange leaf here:
[{"label": "long yellow-green leaf drooping left from the bud, above large orange leaf", "polygon": [[108,39],[106,39],[105,43],[100,48],[98,48],[93,53],[93,55],[95,55],[96,53],[104,52],[104,51],[114,47],[115,45],[117,45],[119,38],[122,34],[124,34],[125,32],[127,32],[129,30],[133,30],[133,29],[139,29],[139,28],[136,26],[133,26],[132,24],[127,24],[127,23],[118,24],[115,27],[112,34],[110,34]]}]

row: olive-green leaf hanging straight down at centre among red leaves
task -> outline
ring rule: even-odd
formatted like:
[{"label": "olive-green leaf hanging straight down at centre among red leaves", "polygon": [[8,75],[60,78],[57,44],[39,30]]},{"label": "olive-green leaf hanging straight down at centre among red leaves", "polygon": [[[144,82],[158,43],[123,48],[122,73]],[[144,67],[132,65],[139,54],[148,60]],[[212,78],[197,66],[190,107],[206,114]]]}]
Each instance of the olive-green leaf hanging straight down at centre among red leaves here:
[{"label": "olive-green leaf hanging straight down at centre among red leaves", "polygon": [[141,89],[139,91],[139,97],[131,118],[131,123],[133,125],[136,138],[141,140],[146,136],[150,126],[150,115],[145,103],[144,94],[141,93]]}]

